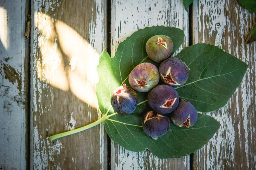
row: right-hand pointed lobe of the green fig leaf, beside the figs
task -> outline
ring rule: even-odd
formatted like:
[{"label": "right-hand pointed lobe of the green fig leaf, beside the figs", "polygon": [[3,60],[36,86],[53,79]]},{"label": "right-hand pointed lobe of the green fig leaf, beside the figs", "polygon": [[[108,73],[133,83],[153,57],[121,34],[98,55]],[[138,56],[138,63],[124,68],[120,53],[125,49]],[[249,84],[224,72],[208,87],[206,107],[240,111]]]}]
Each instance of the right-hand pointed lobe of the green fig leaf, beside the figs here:
[{"label": "right-hand pointed lobe of the green fig leaf, beside the figs", "polygon": [[226,105],[248,67],[231,54],[206,44],[186,47],[176,57],[190,68],[188,81],[176,90],[180,98],[187,99],[202,112]]}]

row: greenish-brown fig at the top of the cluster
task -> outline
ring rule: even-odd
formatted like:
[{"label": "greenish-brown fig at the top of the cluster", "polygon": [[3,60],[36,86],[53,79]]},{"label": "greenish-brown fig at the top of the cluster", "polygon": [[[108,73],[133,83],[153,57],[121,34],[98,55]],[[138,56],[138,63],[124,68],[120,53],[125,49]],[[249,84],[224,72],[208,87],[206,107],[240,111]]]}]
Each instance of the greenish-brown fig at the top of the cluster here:
[{"label": "greenish-brown fig at the top of the cluster", "polygon": [[171,55],[172,49],[173,42],[166,35],[155,35],[148,39],[146,43],[148,57],[155,62],[161,62],[167,59]]}]

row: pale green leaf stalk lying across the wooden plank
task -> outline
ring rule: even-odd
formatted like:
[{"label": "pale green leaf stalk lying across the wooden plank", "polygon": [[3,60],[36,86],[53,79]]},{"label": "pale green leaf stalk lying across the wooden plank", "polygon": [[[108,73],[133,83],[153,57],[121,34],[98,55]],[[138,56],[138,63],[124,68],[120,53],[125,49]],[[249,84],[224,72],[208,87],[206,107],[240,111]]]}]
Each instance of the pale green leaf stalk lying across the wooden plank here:
[{"label": "pale green leaf stalk lying across the wooden plank", "polygon": [[[148,100],[144,100],[143,102],[138,103],[138,105],[141,105],[141,104],[143,104],[143,103],[145,103],[147,101]],[[68,135],[72,135],[72,134],[75,134],[75,133],[79,133],[79,132],[81,132],[83,130],[90,129],[93,126],[99,125],[104,120],[106,120],[109,117],[114,116],[114,115],[117,114],[117,113],[112,113],[112,114],[108,115],[108,112],[110,111],[110,109],[111,109],[111,107],[109,107],[109,109],[108,109],[108,111],[107,111],[107,113],[105,115],[103,115],[100,119],[96,120],[95,122],[90,123],[89,125],[85,125],[83,127],[79,127],[77,129],[70,130],[70,131],[67,131],[67,132],[58,133],[56,135],[50,136],[49,139],[52,141],[52,140],[55,140],[55,139],[58,139],[58,138],[61,138],[61,137],[64,137],[64,136],[68,136]]]}]

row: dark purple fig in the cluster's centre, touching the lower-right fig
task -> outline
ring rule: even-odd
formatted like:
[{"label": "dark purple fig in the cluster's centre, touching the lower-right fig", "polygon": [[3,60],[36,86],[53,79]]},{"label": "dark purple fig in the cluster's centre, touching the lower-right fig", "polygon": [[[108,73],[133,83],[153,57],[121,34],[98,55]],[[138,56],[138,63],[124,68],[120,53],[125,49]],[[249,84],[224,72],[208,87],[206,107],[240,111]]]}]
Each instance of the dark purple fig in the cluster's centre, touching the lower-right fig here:
[{"label": "dark purple fig in the cluster's centre, touching the lower-right fig", "polygon": [[149,92],[148,104],[157,113],[171,113],[179,104],[179,96],[171,86],[158,85]]}]

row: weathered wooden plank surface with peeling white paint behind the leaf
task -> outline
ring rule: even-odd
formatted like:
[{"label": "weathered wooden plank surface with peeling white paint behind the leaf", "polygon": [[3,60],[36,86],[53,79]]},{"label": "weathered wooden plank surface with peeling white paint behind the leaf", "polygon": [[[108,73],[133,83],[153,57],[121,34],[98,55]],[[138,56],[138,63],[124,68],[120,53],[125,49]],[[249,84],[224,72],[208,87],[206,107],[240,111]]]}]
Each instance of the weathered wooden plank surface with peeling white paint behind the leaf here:
[{"label": "weathered wooden plank surface with peeling white paint behind the leaf", "polygon": [[[189,12],[182,0],[0,0],[0,170],[255,170],[256,42],[244,44],[255,22],[236,0],[195,0]],[[227,105],[207,113],[221,123],[210,142],[181,159],[158,159],[120,147],[103,124],[51,142],[101,116],[102,51],[113,56],[125,37],[156,25],[184,31],[180,50],[205,42],[249,65]]]}]

